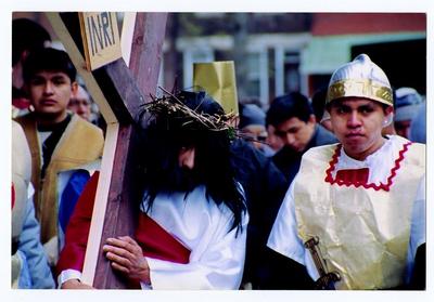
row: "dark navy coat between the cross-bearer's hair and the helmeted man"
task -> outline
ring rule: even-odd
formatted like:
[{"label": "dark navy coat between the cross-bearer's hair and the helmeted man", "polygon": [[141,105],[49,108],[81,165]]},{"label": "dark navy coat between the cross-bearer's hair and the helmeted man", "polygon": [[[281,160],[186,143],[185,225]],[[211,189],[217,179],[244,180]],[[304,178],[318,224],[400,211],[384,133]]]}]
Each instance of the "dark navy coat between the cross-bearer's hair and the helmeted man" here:
[{"label": "dark navy coat between the cross-bearer's hair and the helmeted man", "polygon": [[260,288],[267,263],[264,253],[272,224],[288,189],[283,174],[271,158],[244,140],[231,145],[235,179],[244,188],[250,222],[243,281]]}]

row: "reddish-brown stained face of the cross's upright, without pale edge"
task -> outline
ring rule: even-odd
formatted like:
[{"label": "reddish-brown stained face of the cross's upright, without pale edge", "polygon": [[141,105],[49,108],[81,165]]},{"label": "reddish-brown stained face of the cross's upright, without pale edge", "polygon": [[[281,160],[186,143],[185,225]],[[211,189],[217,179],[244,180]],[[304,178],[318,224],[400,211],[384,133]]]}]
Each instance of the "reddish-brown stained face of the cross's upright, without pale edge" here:
[{"label": "reddish-brown stained face of the cross's upright, without pale edge", "polygon": [[[123,73],[126,65],[124,62],[105,67],[106,75],[115,84],[116,91],[124,101],[131,118],[138,121],[140,106],[150,101],[149,95],[155,95],[159,73],[161,52],[164,42],[167,14],[163,13],[138,13],[130,52],[128,73]],[[136,82],[141,90],[140,99]],[[140,171],[137,171],[137,140],[136,129],[131,123],[120,123],[118,144],[116,147],[115,161],[113,166],[112,184],[107,200],[106,215],[104,221],[101,246],[108,237],[118,235],[132,235],[135,229],[136,214],[132,205],[141,199],[142,183],[140,183]],[[101,250],[101,249],[100,249]],[[125,288],[124,279],[113,274],[110,263],[102,254],[98,260],[95,279],[93,285],[97,288]]]}]

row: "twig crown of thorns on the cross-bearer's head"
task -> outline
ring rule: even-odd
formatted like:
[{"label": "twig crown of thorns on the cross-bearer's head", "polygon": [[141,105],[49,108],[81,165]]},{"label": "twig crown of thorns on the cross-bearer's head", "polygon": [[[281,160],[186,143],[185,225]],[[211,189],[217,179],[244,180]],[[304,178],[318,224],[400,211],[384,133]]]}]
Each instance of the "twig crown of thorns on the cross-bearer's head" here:
[{"label": "twig crown of thorns on the cross-bearer's head", "polygon": [[182,92],[173,94],[164,89],[162,97],[151,95],[152,101],[144,104],[144,111],[153,117],[167,117],[169,119],[181,121],[181,128],[189,129],[205,129],[209,131],[225,131],[235,132],[234,128],[230,124],[231,120],[235,117],[233,113],[229,114],[215,114],[209,115],[200,110],[200,104],[195,108],[190,108],[184,103],[186,97]]}]

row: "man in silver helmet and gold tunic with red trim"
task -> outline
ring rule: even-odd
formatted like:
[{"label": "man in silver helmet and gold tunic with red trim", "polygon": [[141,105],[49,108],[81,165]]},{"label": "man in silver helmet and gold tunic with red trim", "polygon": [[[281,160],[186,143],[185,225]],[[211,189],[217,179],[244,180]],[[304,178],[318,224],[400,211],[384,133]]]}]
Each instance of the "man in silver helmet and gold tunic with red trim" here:
[{"label": "man in silver helmet and gold tunic with red trim", "polygon": [[382,135],[386,75],[358,55],[332,75],[326,108],[340,143],[304,155],[268,247],[320,289],[424,288],[425,147]]}]

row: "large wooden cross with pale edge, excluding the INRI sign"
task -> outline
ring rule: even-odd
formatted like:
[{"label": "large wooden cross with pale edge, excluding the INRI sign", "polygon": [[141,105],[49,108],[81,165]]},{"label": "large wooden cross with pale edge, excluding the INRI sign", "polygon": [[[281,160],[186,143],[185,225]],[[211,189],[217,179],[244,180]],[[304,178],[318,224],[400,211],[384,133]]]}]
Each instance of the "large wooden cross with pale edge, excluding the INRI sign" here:
[{"label": "large wooden cross with pale edge, excluding the INRI sign", "polygon": [[119,58],[93,71],[86,69],[78,13],[46,14],[107,123],[82,279],[100,289],[123,289],[126,280],[113,272],[102,246],[135,231],[132,205],[141,198],[141,184],[133,123],[149,101],[144,96],[156,92],[167,14],[137,13],[130,67]]}]

